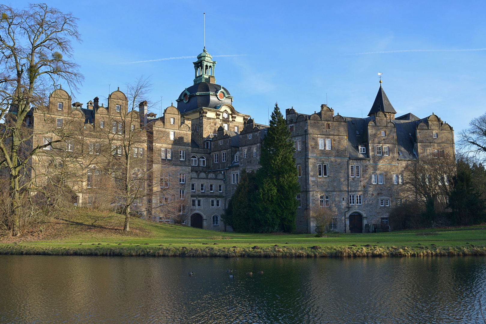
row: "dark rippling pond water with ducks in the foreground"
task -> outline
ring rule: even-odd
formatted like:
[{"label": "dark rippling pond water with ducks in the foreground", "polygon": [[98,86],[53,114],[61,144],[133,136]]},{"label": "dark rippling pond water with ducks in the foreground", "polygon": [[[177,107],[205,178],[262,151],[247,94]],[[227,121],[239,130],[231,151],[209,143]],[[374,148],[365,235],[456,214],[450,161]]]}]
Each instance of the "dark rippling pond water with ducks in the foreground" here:
[{"label": "dark rippling pond water with ducks in the foreground", "polygon": [[0,256],[2,324],[476,324],[478,297],[485,257]]}]

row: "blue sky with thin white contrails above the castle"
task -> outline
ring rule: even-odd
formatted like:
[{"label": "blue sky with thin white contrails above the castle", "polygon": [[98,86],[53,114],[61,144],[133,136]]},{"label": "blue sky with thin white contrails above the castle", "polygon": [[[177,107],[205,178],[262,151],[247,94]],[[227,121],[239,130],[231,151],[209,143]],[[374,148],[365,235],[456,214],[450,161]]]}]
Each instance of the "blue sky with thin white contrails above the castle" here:
[{"label": "blue sky with thin white contrails above the castle", "polygon": [[75,60],[86,80],[75,99],[83,103],[142,74],[152,75],[154,100],[175,103],[192,85],[195,59],[124,63],[195,57],[206,12],[208,52],[238,55],[215,57],[216,81],[257,122],[275,102],[313,113],[326,94],[335,113],[366,116],[378,72],[398,114],[434,112],[459,131],[485,113],[484,1],[47,2],[80,19]]}]

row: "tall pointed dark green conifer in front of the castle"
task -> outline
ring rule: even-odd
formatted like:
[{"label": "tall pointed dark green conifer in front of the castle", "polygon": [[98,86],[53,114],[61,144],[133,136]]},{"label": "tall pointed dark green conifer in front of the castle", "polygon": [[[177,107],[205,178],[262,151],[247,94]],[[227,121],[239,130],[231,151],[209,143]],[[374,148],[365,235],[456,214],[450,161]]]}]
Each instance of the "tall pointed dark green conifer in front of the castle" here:
[{"label": "tall pointed dark green conifer in front of the castle", "polygon": [[254,224],[260,225],[258,232],[295,231],[299,184],[294,153],[290,131],[276,103],[261,145],[261,167],[256,174],[258,192]]}]

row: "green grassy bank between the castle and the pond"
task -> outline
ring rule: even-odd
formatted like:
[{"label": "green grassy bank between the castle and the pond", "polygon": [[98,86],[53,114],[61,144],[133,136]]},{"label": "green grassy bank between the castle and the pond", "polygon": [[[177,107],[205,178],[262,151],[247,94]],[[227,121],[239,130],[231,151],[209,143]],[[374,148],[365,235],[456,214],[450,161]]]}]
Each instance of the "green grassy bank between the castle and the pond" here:
[{"label": "green grassy bank between the castle and the pond", "polygon": [[79,256],[485,256],[486,226],[376,234],[240,234],[140,219],[123,233],[120,215],[77,210],[21,238],[2,238],[0,254]]}]

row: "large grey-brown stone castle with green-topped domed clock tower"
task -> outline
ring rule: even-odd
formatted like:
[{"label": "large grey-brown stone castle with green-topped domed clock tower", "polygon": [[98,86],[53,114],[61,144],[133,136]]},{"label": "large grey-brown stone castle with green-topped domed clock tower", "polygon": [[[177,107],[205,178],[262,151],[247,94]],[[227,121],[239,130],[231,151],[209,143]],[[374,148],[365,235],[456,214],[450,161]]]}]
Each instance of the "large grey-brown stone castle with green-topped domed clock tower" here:
[{"label": "large grey-brown stone castle with green-topped domed clock tower", "polygon": [[[221,215],[242,170],[259,168],[260,147],[268,126],[255,123],[235,109],[229,91],[216,84],[216,62],[206,50],[193,64],[193,85],[185,88],[176,106],[167,107],[159,118],[147,114],[146,102],[133,112],[120,90],[110,94],[107,107],[100,106],[95,98],[83,108],[79,102],[72,103],[65,90],[56,89],[49,97],[47,111],[33,109],[27,123],[33,129],[34,146],[61,136],[56,134],[59,123],[83,129],[77,146],[62,144],[67,152],[79,154],[80,164],[93,165],[72,185],[78,205],[89,207],[93,199],[95,159],[86,161],[86,156],[91,158],[90,153],[94,153],[96,157],[97,150],[107,145],[97,134],[106,128],[113,128],[112,134],[116,135],[121,134],[121,127],[140,127],[145,133],[139,138],[136,161],[138,168],[152,172],[145,188],[147,194],[135,204],[136,208],[145,210],[147,216],[163,218],[156,207],[164,197],[157,196],[157,192],[166,186],[164,170],[170,165],[179,174],[180,198],[189,201],[181,210],[188,214],[186,224],[231,231]],[[123,113],[133,122],[117,122]],[[309,115],[286,109],[301,188],[296,197],[300,203],[297,232],[315,231],[306,218],[306,211],[313,205],[336,208],[338,217],[331,228],[339,232],[362,233],[371,224],[387,224],[391,207],[402,202],[400,187],[407,164],[422,157],[454,154],[452,127],[436,115],[395,115],[381,85],[366,118],[334,115],[325,104]],[[111,147],[116,151],[115,144]],[[42,158],[33,159],[33,169]]]}]

